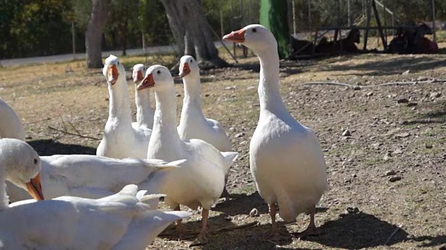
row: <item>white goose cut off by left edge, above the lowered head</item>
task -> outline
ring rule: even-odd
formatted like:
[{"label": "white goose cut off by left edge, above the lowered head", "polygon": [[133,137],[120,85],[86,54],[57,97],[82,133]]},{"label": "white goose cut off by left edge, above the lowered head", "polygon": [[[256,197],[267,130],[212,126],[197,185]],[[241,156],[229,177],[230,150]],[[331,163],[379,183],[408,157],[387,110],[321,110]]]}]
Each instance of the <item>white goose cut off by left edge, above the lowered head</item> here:
[{"label": "white goose cut off by left edge, above the lowered head", "polygon": [[25,140],[25,130],[13,108],[0,98],[0,138]]}]

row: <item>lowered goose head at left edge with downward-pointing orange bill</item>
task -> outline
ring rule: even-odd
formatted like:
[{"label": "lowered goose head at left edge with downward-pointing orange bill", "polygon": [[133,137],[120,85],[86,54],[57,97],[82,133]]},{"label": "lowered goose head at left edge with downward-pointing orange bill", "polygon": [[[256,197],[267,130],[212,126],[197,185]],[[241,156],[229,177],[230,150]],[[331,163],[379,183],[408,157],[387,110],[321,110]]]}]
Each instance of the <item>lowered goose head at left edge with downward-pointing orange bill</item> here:
[{"label": "lowered goose head at left edge with downward-pointing orange bill", "polygon": [[28,190],[34,199],[44,199],[40,185],[40,157],[29,144],[17,139],[1,139],[0,159],[8,181]]}]

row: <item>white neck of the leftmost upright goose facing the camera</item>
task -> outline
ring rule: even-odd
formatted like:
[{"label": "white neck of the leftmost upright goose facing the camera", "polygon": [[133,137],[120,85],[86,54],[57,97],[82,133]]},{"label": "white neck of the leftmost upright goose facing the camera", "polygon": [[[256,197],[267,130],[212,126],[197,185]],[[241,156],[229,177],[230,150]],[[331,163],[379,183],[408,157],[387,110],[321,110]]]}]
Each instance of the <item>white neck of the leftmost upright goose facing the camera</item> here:
[{"label": "white neck of the leftmost upright goose facing the camera", "polygon": [[128,95],[128,85],[125,81],[125,74],[119,74],[118,80],[109,88],[109,122],[118,120],[119,123],[132,124],[132,111],[130,109],[130,97]]}]

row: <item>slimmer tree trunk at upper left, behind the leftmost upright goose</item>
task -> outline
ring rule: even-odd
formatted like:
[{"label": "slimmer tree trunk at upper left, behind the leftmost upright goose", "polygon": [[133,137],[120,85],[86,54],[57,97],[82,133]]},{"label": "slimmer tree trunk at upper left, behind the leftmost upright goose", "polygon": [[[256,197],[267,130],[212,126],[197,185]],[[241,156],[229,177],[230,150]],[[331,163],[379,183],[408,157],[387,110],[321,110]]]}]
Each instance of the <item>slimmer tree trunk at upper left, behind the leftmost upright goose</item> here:
[{"label": "slimmer tree trunk at upper left, behind the leftmost upright goose", "polygon": [[107,23],[110,0],[92,0],[91,16],[85,32],[86,67],[102,67],[102,31]]}]

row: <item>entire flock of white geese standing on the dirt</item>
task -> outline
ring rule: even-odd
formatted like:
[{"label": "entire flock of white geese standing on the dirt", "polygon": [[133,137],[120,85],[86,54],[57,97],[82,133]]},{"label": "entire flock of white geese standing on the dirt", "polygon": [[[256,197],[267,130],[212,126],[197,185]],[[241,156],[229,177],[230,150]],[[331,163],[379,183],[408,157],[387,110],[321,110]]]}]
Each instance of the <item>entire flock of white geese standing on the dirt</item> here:
[{"label": "entire flock of white geese standing on the dirt", "polygon": [[[309,213],[307,230],[296,234],[308,235],[316,228],[315,206],[328,186],[325,160],[314,132],[284,106],[277,42],[257,24],[223,39],[245,44],[260,60],[260,117],[249,158],[257,190],[269,206],[270,237],[284,236],[275,222],[277,207],[286,221]],[[24,142],[14,110],[0,99],[0,249],[145,249],[171,222],[183,237],[181,219],[190,214],[180,205],[201,207],[196,240],[206,243],[209,210],[222,195],[238,153],[231,152],[219,122],[203,116],[194,58],[180,60],[185,97],[178,127],[174,79],[166,67],[134,65],[133,123],[123,65],[109,56],[102,72],[109,118],[97,156],[39,157]],[[155,111],[149,88],[155,92]],[[160,197],[174,211],[156,210]]]}]

